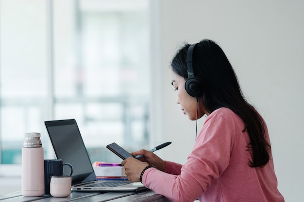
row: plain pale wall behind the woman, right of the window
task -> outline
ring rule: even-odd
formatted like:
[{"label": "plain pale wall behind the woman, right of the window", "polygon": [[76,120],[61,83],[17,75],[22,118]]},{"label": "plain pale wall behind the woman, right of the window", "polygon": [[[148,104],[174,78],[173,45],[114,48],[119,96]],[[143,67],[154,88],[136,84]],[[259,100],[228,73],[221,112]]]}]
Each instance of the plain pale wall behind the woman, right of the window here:
[{"label": "plain pale wall behind the woman, right of the window", "polygon": [[[300,201],[304,181],[304,1],[160,0],[161,75],[157,76],[156,123],[172,141],[162,157],[185,163],[195,140],[195,122],[176,104],[169,63],[182,42],[217,41],[240,85],[264,116],[270,132],[279,190]],[[155,82],[155,83],[156,83]],[[198,130],[204,120],[199,120]],[[156,124],[156,125],[157,125]],[[156,137],[160,135],[155,134]],[[152,134],[153,135],[153,134]]]}]

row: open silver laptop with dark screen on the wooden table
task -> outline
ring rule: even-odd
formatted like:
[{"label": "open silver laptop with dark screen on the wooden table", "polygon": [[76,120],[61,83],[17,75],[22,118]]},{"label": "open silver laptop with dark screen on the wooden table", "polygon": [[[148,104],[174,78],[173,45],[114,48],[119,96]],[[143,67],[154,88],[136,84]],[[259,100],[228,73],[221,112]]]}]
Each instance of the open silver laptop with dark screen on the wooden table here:
[{"label": "open silver laptop with dark screen on the wooden table", "polygon": [[73,166],[72,191],[127,192],[145,189],[128,180],[97,180],[75,119],[45,121],[57,159]]}]

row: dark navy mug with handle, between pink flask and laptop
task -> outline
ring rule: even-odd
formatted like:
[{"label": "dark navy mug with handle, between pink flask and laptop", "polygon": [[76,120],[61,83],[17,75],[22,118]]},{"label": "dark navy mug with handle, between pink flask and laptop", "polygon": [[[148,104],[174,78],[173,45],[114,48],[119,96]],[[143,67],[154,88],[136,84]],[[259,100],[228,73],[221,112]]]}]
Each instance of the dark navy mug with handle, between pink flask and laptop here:
[{"label": "dark navy mug with handle, between pink flask and laptop", "polygon": [[70,168],[71,176],[73,174],[73,167],[69,163],[63,163],[62,159],[45,159],[44,160],[44,194],[50,194],[50,183],[51,176],[62,176],[63,175],[63,166],[68,166]]}]

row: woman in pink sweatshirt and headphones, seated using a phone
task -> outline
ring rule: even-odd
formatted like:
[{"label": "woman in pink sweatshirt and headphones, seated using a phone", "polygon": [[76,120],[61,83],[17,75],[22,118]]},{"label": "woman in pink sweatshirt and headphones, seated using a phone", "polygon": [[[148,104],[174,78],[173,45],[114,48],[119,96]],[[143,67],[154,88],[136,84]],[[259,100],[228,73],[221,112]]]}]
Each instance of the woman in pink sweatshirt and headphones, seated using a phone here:
[{"label": "woman in pink sweatshirt and headphones, seated using a phone", "polygon": [[[193,65],[193,66],[192,66]],[[215,42],[182,47],[171,62],[177,104],[190,120],[207,118],[184,165],[141,150],[121,162],[173,202],[284,202],[277,189],[263,118],[244,98],[236,74]]]}]

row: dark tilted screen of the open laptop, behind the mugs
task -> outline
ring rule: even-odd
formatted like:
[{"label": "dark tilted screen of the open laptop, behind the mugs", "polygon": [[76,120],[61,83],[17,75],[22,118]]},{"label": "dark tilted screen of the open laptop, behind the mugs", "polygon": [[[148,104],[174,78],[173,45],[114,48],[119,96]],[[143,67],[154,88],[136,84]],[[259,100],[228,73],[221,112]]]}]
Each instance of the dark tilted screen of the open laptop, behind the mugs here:
[{"label": "dark tilted screen of the open laptop, behind the mugs", "polygon": [[[64,163],[73,166],[72,184],[96,180],[76,121],[74,119],[46,121],[45,125],[57,159],[63,159]],[[64,169],[66,169],[64,174],[69,174],[69,168],[64,166]]]}]

